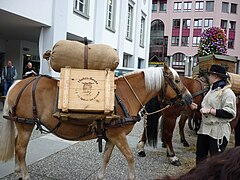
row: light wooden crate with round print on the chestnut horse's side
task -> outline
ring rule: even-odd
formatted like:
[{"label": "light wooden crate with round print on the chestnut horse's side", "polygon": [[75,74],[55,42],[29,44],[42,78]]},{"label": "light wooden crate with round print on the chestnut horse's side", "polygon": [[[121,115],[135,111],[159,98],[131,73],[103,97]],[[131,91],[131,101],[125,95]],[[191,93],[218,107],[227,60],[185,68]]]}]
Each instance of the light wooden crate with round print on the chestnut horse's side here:
[{"label": "light wooden crate with round print on the chestnut horse's side", "polygon": [[61,68],[58,109],[110,113],[114,110],[114,72]]}]

